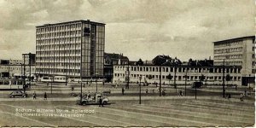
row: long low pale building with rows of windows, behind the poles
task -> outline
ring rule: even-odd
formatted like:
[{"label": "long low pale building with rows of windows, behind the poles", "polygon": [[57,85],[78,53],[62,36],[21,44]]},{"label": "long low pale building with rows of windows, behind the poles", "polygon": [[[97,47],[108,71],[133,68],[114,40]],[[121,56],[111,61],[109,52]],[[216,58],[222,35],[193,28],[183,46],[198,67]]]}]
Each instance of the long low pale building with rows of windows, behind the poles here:
[{"label": "long low pale building with rows of windows, behind the poles", "polygon": [[[161,70],[160,70],[161,68]],[[176,73],[175,73],[176,68]],[[160,83],[160,77],[162,84],[173,84],[174,74],[176,74],[176,83],[185,84],[187,77],[187,84],[192,84],[195,81],[199,81],[201,75],[206,77],[207,84],[222,84],[224,75],[230,74],[230,82],[228,84],[241,85],[241,67],[191,67],[191,66],[155,66],[155,65],[143,65],[143,66],[127,66],[127,65],[114,65],[113,66],[113,83],[126,82],[126,78],[129,77],[130,82],[137,83],[142,77],[142,82],[148,83]],[[167,79],[167,76],[171,74],[173,79]],[[128,76],[127,76],[128,75]],[[151,76],[151,77],[149,77]]]}]

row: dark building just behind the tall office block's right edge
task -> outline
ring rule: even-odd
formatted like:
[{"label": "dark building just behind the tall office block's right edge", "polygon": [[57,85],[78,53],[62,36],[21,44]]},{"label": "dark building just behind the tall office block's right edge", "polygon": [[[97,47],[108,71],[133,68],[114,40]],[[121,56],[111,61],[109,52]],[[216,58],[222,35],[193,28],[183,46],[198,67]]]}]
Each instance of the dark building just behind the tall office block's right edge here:
[{"label": "dark building just behind the tall office block's right edge", "polygon": [[111,82],[113,79],[113,65],[127,65],[129,59],[127,56],[123,54],[112,54],[105,53],[104,54],[104,76],[107,79],[107,82]]}]

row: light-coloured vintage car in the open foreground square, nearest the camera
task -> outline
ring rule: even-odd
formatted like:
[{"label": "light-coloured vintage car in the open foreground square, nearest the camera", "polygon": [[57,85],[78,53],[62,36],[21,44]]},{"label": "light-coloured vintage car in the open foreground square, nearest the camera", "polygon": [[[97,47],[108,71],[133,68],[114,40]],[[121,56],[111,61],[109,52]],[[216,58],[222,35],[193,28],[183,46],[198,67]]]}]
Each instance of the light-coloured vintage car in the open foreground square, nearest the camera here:
[{"label": "light-coloured vintage car in the open foreground square, nearest the camera", "polygon": [[103,96],[101,93],[95,93],[93,96],[86,94],[83,96],[82,101],[80,99],[77,101],[79,105],[88,105],[88,104],[99,104],[100,97],[102,97],[102,104],[108,104],[109,100],[107,96]]}]

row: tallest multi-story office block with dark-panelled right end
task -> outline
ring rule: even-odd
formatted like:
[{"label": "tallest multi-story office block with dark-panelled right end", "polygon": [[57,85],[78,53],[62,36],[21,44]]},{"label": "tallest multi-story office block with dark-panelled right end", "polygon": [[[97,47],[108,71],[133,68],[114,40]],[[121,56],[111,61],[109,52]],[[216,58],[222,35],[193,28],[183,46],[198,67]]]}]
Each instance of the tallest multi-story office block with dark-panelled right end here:
[{"label": "tallest multi-story office block with dark-panelled right end", "polygon": [[37,26],[38,76],[103,76],[105,24],[74,20]]}]

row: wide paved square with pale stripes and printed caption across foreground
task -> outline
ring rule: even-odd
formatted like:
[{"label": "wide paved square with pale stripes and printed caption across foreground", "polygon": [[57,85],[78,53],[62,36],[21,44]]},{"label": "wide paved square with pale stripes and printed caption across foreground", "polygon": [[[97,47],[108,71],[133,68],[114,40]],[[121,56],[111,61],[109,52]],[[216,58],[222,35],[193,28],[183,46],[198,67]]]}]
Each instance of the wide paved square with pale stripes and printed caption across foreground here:
[{"label": "wide paved square with pale stripes and printed caption across foreground", "polygon": [[[197,100],[190,87],[187,96],[176,96],[175,89],[165,87],[166,96],[159,96],[155,86],[142,86],[142,104],[138,101],[136,85],[121,94],[111,84],[100,84],[98,91],[111,90],[110,105],[79,106],[79,85],[38,84],[26,90],[27,98],[9,98],[9,92],[1,91],[0,125],[6,126],[248,126],[254,125],[254,99],[248,96],[244,102],[239,94],[230,99],[222,97],[221,91],[199,90]],[[95,92],[95,85],[83,87],[83,93]],[[148,94],[145,90],[148,89]],[[183,87],[177,90],[183,90]],[[212,90],[212,89],[211,89]],[[217,89],[216,89],[217,90]],[[231,90],[231,89],[230,89]],[[32,99],[36,91],[37,99]],[[44,100],[44,92],[48,99]],[[38,111],[51,110],[50,112]],[[23,110],[23,111],[21,111]],[[25,112],[31,110],[31,112]],[[94,113],[83,113],[94,112]],[[79,113],[75,113],[78,111]],[[82,116],[79,116],[82,114]],[[9,120],[15,120],[10,122]]]}]

